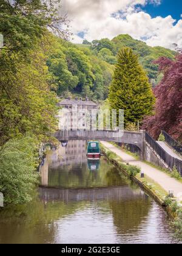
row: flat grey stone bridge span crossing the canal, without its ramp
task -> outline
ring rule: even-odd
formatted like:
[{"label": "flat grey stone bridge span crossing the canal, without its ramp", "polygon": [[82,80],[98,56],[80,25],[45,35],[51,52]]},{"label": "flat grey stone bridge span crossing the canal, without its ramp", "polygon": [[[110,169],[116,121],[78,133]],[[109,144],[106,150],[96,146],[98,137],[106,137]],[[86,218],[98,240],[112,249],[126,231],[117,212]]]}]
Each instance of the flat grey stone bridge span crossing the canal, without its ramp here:
[{"label": "flat grey stone bridge span crossing the canal, without its ramp", "polygon": [[98,140],[134,144],[143,152],[145,133],[113,130],[59,130],[55,137],[59,141]]}]

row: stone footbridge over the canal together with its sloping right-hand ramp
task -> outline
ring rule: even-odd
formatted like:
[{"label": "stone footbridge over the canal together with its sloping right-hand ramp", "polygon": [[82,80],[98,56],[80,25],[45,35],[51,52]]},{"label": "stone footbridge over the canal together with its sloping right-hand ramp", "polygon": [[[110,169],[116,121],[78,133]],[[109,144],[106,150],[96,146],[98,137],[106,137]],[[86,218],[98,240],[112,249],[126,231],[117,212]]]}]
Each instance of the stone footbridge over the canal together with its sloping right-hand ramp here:
[{"label": "stone footbridge over the canal together with its sloping right-hand ramp", "polygon": [[182,160],[166,152],[144,130],[140,130],[140,132],[129,132],[125,130],[59,130],[55,133],[55,137],[59,141],[98,140],[133,144],[140,149],[142,160],[146,160],[162,168],[168,168],[170,171],[175,166],[182,176]]}]

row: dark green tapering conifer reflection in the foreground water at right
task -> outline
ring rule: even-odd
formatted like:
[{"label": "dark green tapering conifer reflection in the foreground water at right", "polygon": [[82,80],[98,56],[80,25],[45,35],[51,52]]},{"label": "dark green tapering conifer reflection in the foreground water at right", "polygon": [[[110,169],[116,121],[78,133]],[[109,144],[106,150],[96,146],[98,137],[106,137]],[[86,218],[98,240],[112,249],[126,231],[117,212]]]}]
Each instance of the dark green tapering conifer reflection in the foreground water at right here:
[{"label": "dark green tapering conifer reflection in the foreground water at right", "polygon": [[149,214],[150,199],[133,197],[130,200],[110,201],[113,222],[118,233],[133,233],[130,230],[138,230],[142,219]]}]

